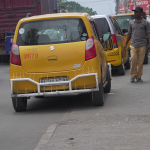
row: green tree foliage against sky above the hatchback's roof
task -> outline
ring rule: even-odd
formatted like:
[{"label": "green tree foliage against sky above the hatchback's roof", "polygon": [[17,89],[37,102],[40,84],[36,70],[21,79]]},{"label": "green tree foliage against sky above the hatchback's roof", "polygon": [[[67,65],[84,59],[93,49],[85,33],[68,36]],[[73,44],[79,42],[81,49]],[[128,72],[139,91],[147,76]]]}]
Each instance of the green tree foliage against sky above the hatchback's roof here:
[{"label": "green tree foliage against sky above the hatchback's roof", "polygon": [[90,15],[97,15],[96,11],[93,11],[92,8],[83,7],[79,3],[75,1],[67,1],[67,0],[60,0],[63,1],[63,6],[67,8],[68,12],[86,12]]}]

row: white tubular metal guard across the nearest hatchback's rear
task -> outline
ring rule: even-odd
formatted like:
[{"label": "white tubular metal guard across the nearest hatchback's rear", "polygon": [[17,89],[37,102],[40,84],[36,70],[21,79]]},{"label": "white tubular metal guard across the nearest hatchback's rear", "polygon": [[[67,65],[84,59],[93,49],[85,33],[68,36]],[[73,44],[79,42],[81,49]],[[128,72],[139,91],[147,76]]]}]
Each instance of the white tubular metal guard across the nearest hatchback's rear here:
[{"label": "white tubular metal guard across the nearest hatchback's rear", "polygon": [[[83,89],[73,89],[72,88],[72,83],[82,77],[91,77],[94,76],[95,77],[95,83],[96,83],[96,87],[93,87],[91,89],[86,88],[86,85],[84,85]],[[28,81],[31,82],[33,84],[35,84],[37,86],[37,92],[33,92],[33,93],[28,93],[26,91],[26,93],[15,93],[14,94],[14,90],[13,90],[13,83],[14,82],[22,82],[22,81]],[[99,82],[98,82],[98,74],[97,73],[89,73],[89,74],[81,74],[81,75],[77,75],[76,77],[72,78],[69,81],[61,81],[61,82],[51,82],[51,83],[39,83],[37,81],[34,81],[31,78],[17,78],[17,79],[11,79],[11,97],[32,97],[32,96],[44,96],[44,97],[49,97],[49,96],[60,96],[60,95],[78,95],[78,94],[82,94],[82,93],[88,93],[88,92],[92,92],[92,91],[98,91],[99,90]],[[41,90],[41,87],[52,87],[53,86],[64,86],[64,85],[68,85],[69,89],[66,90],[65,88],[63,90],[60,91],[43,91]],[[26,89],[25,89],[26,90]]]}]

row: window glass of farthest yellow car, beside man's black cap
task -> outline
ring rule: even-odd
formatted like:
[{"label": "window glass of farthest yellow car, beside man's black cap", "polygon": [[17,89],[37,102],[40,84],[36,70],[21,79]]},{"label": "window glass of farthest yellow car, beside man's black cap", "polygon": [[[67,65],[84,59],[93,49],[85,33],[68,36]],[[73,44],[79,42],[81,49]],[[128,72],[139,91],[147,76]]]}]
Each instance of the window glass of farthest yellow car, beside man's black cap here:
[{"label": "window glass of farthest yellow car, beside man's black cap", "polygon": [[129,21],[134,19],[134,15],[114,17],[121,29],[128,29]]}]

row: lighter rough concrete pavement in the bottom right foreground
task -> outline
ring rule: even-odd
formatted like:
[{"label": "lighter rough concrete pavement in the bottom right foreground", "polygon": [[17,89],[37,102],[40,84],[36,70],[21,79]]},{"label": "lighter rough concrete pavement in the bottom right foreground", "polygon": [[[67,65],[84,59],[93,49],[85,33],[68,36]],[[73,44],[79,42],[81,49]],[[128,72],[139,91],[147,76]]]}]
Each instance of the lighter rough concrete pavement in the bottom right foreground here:
[{"label": "lighter rough concrete pavement in the bottom right foreground", "polygon": [[92,120],[67,122],[56,128],[44,150],[148,150],[148,118],[97,116]]}]

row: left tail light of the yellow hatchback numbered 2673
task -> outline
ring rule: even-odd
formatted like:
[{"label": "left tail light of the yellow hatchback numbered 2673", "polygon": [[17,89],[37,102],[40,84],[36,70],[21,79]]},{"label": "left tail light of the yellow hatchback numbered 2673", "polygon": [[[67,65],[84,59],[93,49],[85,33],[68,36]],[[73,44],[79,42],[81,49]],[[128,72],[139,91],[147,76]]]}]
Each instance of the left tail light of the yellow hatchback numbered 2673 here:
[{"label": "left tail light of the yellow hatchback numbered 2673", "polygon": [[21,66],[19,46],[15,43],[13,43],[11,47],[10,62],[14,65]]}]

